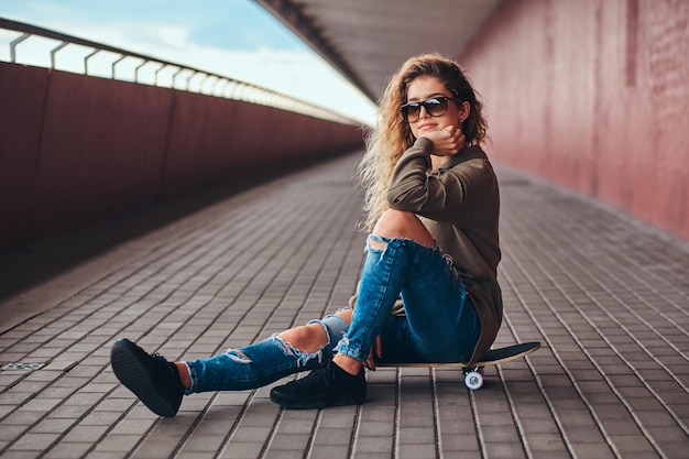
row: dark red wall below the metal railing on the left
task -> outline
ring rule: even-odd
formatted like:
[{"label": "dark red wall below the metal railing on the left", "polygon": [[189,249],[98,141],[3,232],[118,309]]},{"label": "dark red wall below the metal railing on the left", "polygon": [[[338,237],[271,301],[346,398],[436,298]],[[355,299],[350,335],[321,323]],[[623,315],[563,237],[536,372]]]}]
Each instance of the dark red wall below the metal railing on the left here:
[{"label": "dark red wall below the metal railing on the left", "polygon": [[363,143],[358,125],[8,63],[0,140],[0,250]]}]

